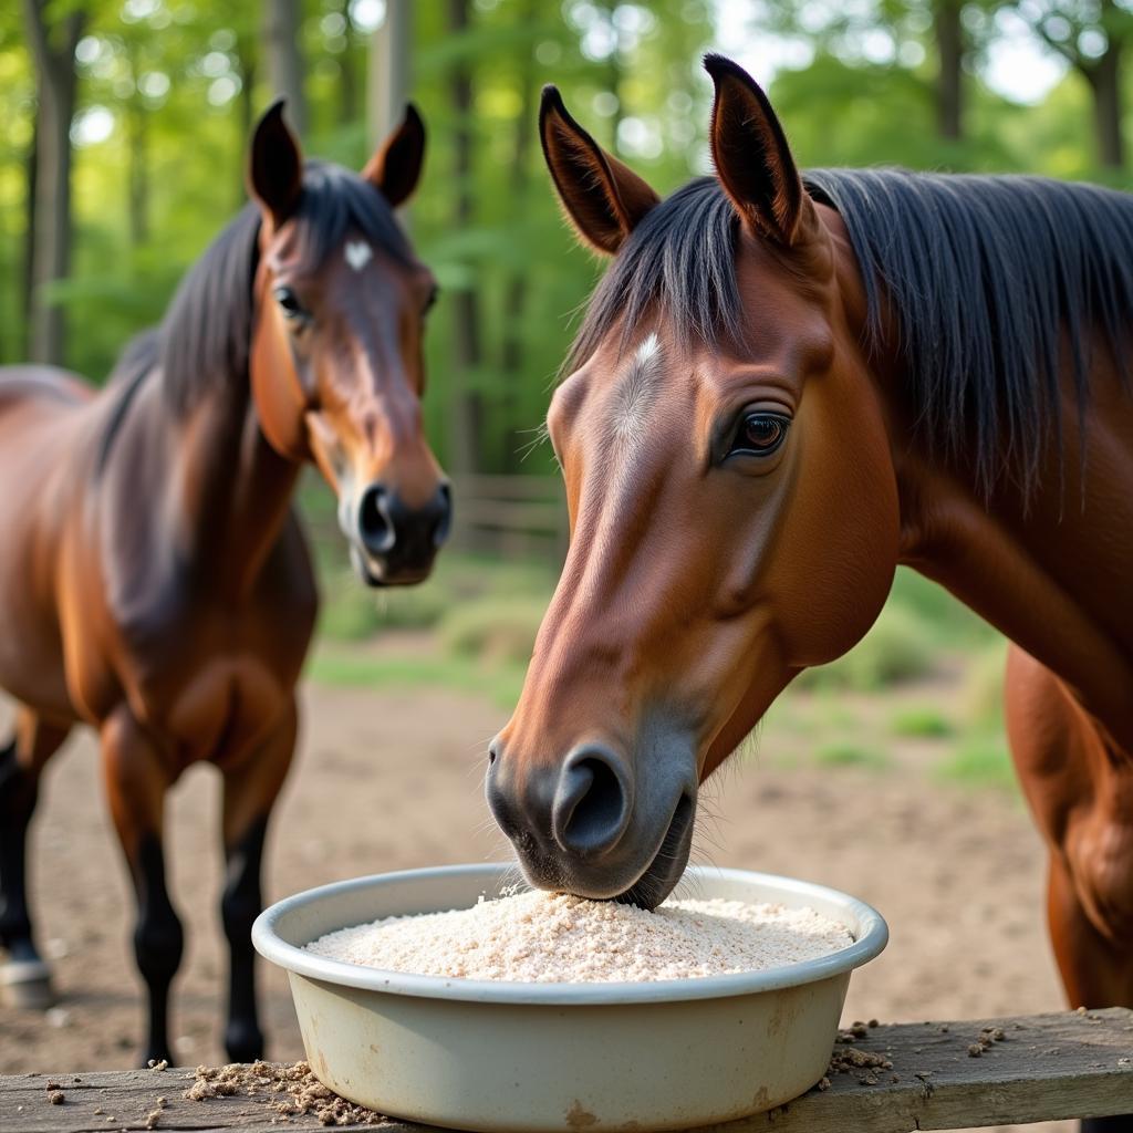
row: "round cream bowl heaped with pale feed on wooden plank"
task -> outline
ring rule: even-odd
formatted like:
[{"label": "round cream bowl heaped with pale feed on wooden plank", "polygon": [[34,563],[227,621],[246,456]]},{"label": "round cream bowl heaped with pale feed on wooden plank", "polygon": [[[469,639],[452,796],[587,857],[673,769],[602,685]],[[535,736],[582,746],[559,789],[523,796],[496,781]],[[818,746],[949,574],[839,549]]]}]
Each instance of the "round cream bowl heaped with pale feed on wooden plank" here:
[{"label": "round cream bowl heaped with pale feed on wooden plank", "polygon": [[657,913],[544,894],[482,901],[510,876],[385,874],[259,917],[253,943],[287,970],[324,1084],[459,1130],[732,1121],[823,1076],[850,973],[888,937],[862,902],[766,874],[689,870],[696,900]]}]

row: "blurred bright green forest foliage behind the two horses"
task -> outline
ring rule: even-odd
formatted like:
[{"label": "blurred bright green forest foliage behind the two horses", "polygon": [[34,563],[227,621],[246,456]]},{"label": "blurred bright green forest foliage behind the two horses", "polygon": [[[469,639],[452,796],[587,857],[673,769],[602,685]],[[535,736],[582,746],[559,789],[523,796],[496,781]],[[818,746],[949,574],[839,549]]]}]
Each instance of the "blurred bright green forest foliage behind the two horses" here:
[{"label": "blurred bright green forest foliage behind the two horses", "polygon": [[[247,135],[272,92],[253,0],[70,2],[87,12],[88,29],[78,53],[75,255],[73,278],[50,298],[69,312],[69,365],[101,381],[129,337],[160,317],[180,274],[242,203]],[[299,35],[307,150],[353,168],[376,142],[365,121],[368,28],[355,22],[363,7],[304,0]],[[927,0],[752,5],[753,32],[789,34],[808,49],[802,58],[812,56],[798,70],[781,70],[772,85],[801,162],[1099,176],[1090,92],[1080,76],[1067,75],[1036,107],[1015,105],[981,83],[980,52],[996,35],[994,7],[983,0],[964,6],[974,73],[965,76],[968,136],[956,143],[935,128]],[[544,471],[546,450],[521,462],[523,431],[545,411],[572,314],[600,269],[568,232],[543,169],[535,138],[539,86],[556,82],[603,144],[668,191],[707,168],[710,85],[699,56],[714,43],[732,44],[719,43],[721,7],[709,0],[477,0],[461,34],[448,25],[448,6],[414,5],[414,97],[429,127],[429,148],[410,219],[420,255],[445,291],[426,346],[428,429],[446,459],[459,383],[479,398],[480,470]],[[878,37],[892,44],[888,54],[871,51]],[[461,66],[472,78],[467,120],[451,97]],[[0,361],[25,352],[33,114],[19,6],[7,5],[0,15]],[[471,130],[472,215],[458,223],[454,136],[461,126]],[[480,358],[458,373],[452,296],[463,291],[477,298]]]}]

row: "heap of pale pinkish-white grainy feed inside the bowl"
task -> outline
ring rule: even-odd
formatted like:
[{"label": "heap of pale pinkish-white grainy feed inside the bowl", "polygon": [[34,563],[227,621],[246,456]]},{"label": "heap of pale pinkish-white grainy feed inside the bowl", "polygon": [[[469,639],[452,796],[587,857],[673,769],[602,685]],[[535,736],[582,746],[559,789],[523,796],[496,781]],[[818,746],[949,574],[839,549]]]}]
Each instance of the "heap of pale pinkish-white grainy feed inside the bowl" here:
[{"label": "heap of pale pinkish-white grainy feed inside the bowl", "polygon": [[394,972],[525,983],[608,983],[753,972],[853,943],[813,909],[668,900],[656,912],[535,891],[471,909],[387,917],[307,945]]}]

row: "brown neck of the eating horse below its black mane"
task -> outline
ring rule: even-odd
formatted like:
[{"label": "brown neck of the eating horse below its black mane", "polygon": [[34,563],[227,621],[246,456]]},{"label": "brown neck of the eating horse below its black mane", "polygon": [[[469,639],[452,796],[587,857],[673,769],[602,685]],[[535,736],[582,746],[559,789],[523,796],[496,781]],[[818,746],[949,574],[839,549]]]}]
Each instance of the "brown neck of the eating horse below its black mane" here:
[{"label": "brown neck of the eating horse below its black mane", "polygon": [[900,381],[885,395],[902,561],[1062,678],[1133,751],[1133,398],[1098,353],[1084,451],[1065,375],[1062,454],[1053,440],[1033,494],[1005,474],[988,495],[970,462],[926,453],[900,403]]}]

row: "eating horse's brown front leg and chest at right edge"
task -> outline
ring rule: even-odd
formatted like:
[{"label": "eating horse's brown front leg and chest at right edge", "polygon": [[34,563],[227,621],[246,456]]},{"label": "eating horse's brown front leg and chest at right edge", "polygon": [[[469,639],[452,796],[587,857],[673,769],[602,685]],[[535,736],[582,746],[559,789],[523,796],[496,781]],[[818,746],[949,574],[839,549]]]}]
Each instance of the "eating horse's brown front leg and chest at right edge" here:
[{"label": "eating horse's brown front leg and chest at right edge", "polygon": [[[1050,851],[1047,915],[1072,1007],[1133,1007],[1133,773],[1062,682],[1013,649],[1012,755]],[[1133,1114],[1082,1133],[1133,1133]]]}]

